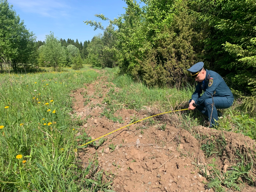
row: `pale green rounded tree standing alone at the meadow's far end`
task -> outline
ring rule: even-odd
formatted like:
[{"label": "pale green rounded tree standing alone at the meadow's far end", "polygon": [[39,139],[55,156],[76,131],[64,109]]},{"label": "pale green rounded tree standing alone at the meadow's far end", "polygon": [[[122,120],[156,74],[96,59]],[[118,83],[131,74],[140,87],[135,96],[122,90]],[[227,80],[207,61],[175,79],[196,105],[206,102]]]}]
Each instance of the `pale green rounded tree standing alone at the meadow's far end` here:
[{"label": "pale green rounded tree standing alone at the meadow's far end", "polygon": [[59,40],[54,37],[54,33],[46,35],[45,45],[42,45],[39,49],[39,62],[42,66],[45,63],[51,67],[58,69],[66,64],[66,52]]}]

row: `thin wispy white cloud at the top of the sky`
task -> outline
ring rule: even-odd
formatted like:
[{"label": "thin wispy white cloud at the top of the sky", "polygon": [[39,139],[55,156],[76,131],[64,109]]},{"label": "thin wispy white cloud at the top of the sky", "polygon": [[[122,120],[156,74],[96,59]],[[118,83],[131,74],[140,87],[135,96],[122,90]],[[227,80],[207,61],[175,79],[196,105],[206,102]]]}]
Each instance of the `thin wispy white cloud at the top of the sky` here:
[{"label": "thin wispy white cloud at the top of the sky", "polygon": [[19,7],[24,12],[36,13],[43,17],[60,18],[69,16],[69,7],[59,0],[8,0],[10,5]]}]

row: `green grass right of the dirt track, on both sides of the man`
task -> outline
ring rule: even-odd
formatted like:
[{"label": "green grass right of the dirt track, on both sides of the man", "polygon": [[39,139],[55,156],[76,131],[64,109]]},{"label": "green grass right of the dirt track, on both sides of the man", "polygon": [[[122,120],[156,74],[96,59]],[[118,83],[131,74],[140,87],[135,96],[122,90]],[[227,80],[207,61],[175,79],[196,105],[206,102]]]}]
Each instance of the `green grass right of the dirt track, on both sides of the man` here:
[{"label": "green grass right of the dirt track, on both sides of the man", "polygon": [[[141,82],[135,82],[129,75],[117,75],[118,69],[105,69],[105,74],[110,74],[115,86],[121,88],[111,95],[113,100],[129,109],[140,110],[144,106],[150,106],[167,112],[175,109],[188,108],[188,101],[195,90],[195,83],[181,89],[147,87]],[[219,130],[243,133],[246,136],[256,139],[256,121],[253,114],[245,112],[239,103],[234,104],[229,109],[219,110],[222,117],[219,118]],[[181,125],[190,130],[191,126],[207,126],[208,117],[202,115],[198,110],[184,111],[179,119]]]}]

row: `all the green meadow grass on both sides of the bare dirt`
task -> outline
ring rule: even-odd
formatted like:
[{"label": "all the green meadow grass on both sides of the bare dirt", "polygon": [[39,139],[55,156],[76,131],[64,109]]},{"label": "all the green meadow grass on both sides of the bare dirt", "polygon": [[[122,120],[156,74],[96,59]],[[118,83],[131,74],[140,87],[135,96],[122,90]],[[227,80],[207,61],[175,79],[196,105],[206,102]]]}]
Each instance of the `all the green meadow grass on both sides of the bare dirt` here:
[{"label": "all the green meadow grass on both sides of the bare dirt", "polygon": [[[117,68],[106,68],[99,74],[88,66],[79,71],[45,69],[37,73],[0,74],[2,191],[90,191],[93,181],[84,182],[83,178],[91,171],[91,165],[84,169],[74,163],[79,150],[75,139],[79,119],[71,115],[70,97],[73,90],[85,87],[84,83],[106,75],[119,88],[116,91],[111,87],[109,103],[135,110],[154,107],[161,112],[187,108],[194,89],[193,86],[180,90],[149,88],[127,75],[115,74]],[[101,94],[100,88],[98,92]],[[235,102],[231,108],[221,111],[219,127],[256,139],[254,117],[239,106]],[[205,125],[207,119],[191,111],[181,113],[178,118],[178,126],[188,130]],[[88,163],[97,166],[95,159]],[[101,183],[100,174],[95,178],[94,186],[98,188],[94,191],[107,186]]]}]

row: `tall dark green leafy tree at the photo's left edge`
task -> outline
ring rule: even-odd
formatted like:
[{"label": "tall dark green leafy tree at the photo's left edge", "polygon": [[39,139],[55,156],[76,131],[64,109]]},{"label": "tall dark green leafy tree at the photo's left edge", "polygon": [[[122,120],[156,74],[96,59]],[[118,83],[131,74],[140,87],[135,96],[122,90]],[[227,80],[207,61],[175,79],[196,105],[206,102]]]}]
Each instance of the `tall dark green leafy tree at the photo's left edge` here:
[{"label": "tall dark green leafy tree at the photo's left edge", "polygon": [[36,37],[26,29],[23,21],[9,7],[6,0],[0,0],[0,56],[2,63],[17,71],[20,66],[35,64]]}]

